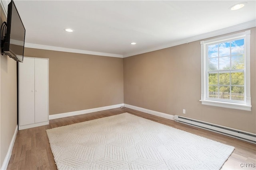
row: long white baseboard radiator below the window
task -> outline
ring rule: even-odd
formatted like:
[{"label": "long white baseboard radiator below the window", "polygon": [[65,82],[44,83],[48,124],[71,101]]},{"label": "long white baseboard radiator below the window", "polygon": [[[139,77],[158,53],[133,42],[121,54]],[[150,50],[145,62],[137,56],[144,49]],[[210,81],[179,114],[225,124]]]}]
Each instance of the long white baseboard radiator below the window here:
[{"label": "long white baseboard radiator below the window", "polygon": [[225,127],[225,126],[216,125],[213,123],[199,121],[196,119],[190,119],[188,117],[183,117],[183,116],[179,116],[179,115],[174,115],[174,121],[177,121],[180,123],[185,123],[185,124],[192,125],[195,127],[200,127],[202,129],[214,131],[216,133],[220,133],[223,135],[234,137],[236,139],[241,139],[241,140],[256,144],[256,134],[255,133],[241,131],[241,130],[233,129],[230,127]]}]

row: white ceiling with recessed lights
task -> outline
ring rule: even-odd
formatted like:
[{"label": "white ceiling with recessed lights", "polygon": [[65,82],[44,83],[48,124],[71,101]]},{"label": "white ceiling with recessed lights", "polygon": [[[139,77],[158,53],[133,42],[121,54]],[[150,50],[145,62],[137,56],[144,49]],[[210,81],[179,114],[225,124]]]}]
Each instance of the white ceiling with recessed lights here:
[{"label": "white ceiling with recessed lights", "polygon": [[[74,1],[14,0],[27,44],[110,53],[118,57],[256,20],[256,0]],[[68,33],[65,28],[72,28]],[[131,45],[136,42],[136,45]]]}]

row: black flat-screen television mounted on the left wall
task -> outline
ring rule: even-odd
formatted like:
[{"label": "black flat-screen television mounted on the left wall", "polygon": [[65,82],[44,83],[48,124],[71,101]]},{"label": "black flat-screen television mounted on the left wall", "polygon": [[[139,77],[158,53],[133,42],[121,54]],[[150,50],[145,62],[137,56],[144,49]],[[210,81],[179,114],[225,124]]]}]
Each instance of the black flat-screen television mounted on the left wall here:
[{"label": "black flat-screen television mounted on the left wall", "polygon": [[18,62],[23,62],[26,30],[13,1],[8,4],[7,23],[5,25],[3,31],[1,27],[1,33],[5,33],[1,39],[1,53]]}]

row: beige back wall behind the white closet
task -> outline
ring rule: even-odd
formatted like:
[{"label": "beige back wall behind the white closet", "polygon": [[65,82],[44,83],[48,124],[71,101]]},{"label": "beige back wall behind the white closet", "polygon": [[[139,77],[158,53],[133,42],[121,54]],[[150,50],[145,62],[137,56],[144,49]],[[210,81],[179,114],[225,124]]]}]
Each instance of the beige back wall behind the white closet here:
[{"label": "beige back wall behind the white closet", "polygon": [[49,59],[50,115],[124,103],[123,59],[25,48]]}]

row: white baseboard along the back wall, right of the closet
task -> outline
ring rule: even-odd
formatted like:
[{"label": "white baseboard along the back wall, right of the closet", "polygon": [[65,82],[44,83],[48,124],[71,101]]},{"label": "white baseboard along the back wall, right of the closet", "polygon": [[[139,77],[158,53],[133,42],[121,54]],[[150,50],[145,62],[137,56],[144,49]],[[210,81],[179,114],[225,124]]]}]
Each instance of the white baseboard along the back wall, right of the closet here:
[{"label": "white baseboard along the back wall, right of the closet", "polygon": [[112,106],[104,106],[104,107],[97,107],[97,108],[93,108],[93,109],[71,111],[71,112],[67,112],[67,113],[59,113],[59,114],[55,114],[55,115],[49,115],[49,120],[59,119],[62,117],[75,116],[75,115],[82,115],[82,114],[92,113],[92,112],[96,112],[96,111],[115,109],[115,108],[118,108],[121,106],[124,106],[124,104],[116,104],[116,105],[112,105]]}]

